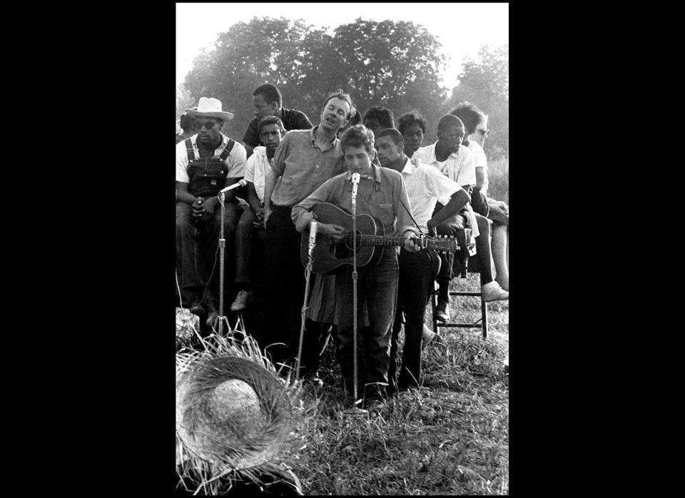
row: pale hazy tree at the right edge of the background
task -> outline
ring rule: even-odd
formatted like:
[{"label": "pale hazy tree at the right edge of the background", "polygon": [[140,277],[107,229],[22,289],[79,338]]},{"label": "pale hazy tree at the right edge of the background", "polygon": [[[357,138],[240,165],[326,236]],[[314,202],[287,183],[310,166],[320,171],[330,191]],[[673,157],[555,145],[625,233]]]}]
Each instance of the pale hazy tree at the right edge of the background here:
[{"label": "pale hazy tree at the right edge of the background", "polygon": [[488,115],[485,141],[488,157],[509,156],[509,45],[493,49],[482,46],[478,61],[466,59],[462,63],[460,83],[455,86],[447,101],[449,112],[457,103],[470,101]]}]

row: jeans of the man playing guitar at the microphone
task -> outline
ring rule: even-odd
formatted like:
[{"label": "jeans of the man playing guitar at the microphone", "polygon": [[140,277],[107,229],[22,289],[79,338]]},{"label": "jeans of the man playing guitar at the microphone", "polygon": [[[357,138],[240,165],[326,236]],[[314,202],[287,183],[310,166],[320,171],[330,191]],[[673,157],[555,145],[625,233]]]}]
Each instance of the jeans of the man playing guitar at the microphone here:
[{"label": "jeans of the man playing guitar at the microphone", "polygon": [[[381,250],[381,248],[376,248]],[[385,394],[387,371],[390,367],[390,337],[397,304],[397,250],[384,248],[380,261],[371,267],[357,268],[357,395],[367,397]],[[336,305],[338,306],[337,355],[347,392],[354,394],[354,323],[352,320],[352,267],[345,265],[335,275]],[[362,327],[362,307],[367,305],[369,327]],[[361,360],[361,361],[360,361]],[[368,386],[365,386],[367,385]]]}]

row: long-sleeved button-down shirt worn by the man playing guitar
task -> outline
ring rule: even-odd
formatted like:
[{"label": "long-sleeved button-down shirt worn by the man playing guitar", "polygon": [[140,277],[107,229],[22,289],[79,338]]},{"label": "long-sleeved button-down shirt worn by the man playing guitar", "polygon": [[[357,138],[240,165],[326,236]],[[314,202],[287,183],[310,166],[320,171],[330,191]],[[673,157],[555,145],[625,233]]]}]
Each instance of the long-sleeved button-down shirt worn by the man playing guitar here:
[{"label": "long-sleeved button-down shirt worn by the man playing guitar", "polygon": [[[412,206],[402,175],[395,170],[371,166],[372,175],[362,176],[357,187],[357,214],[370,215],[382,223],[385,235],[400,237],[407,230],[416,233],[407,213]],[[293,208],[291,217],[300,232],[315,219],[312,208],[319,203],[331,203],[352,213],[352,173],[331,178]],[[400,202],[401,201],[401,202]],[[406,209],[402,207],[402,203]]]}]

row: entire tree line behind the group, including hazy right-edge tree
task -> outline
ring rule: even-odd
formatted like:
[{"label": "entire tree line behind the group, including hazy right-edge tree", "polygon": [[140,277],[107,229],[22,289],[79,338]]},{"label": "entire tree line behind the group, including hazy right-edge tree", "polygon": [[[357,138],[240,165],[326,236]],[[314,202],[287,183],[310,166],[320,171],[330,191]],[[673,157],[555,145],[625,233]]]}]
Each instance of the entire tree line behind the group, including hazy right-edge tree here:
[{"label": "entire tree line behind the group, including hazy right-edge tree", "polygon": [[[365,21],[338,26],[333,35],[302,20],[255,17],[219,34],[201,51],[177,93],[177,116],[201,96],[219,98],[235,114],[228,131],[240,141],[253,118],[252,93],[274,83],[283,106],[296,108],[317,124],[331,91],[350,93],[360,113],[390,108],[395,121],[419,111],[428,122],[425,145],[437,140],[437,121],[457,103],[470,101],[489,115],[485,142],[489,157],[509,151],[509,49],[483,46],[477,60],[462,61],[460,83],[440,86],[446,56],[423,26],[406,21]],[[397,123],[396,123],[397,124]]]}]

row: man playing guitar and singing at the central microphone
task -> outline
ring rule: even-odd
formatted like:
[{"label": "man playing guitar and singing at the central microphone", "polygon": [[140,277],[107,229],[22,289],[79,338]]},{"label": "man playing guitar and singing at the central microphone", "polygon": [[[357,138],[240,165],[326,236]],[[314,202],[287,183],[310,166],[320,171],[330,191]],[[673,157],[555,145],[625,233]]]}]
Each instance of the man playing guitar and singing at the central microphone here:
[{"label": "man playing guitar and singing at the central microphone", "polygon": [[[411,210],[405,182],[397,171],[372,165],[375,157],[374,136],[362,125],[352,126],[340,139],[347,173],[335,176],[323,183],[312,194],[293,207],[295,228],[303,232],[315,219],[313,208],[320,203],[333,203],[348,211],[352,206],[352,173],[359,173],[357,187],[357,212],[372,216],[382,225],[386,235],[404,239],[404,248],[415,252],[417,233],[409,212]],[[404,204],[404,206],[402,206]],[[318,233],[340,242],[345,228],[333,223],[318,223]],[[367,308],[370,327],[365,327],[359,350],[363,351],[360,365],[360,392],[365,392],[365,407],[382,405],[390,367],[390,336],[397,302],[397,249],[377,248],[382,255],[375,265],[358,269],[357,278],[357,330],[362,331],[362,312]],[[352,311],[352,268],[343,265],[336,270],[335,299],[338,322],[338,362],[345,380],[347,392],[352,397],[354,330]],[[355,402],[356,400],[352,400]]]}]

